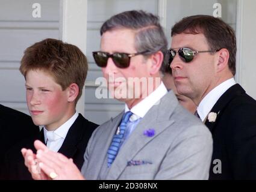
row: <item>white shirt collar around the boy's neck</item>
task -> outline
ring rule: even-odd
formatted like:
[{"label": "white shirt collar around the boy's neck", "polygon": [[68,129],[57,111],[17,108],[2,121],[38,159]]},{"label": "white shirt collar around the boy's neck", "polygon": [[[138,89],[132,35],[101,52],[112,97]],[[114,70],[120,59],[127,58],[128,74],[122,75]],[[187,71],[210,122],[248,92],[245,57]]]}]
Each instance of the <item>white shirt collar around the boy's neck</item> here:
[{"label": "white shirt collar around the boy's neck", "polygon": [[[76,118],[78,118],[77,112],[75,112],[75,114],[69,120],[64,122],[64,124],[62,124],[60,127],[58,127],[56,130],[54,130],[52,132],[54,132],[55,134],[60,136],[62,139],[65,139],[67,136],[67,132],[69,131],[69,128],[73,125]],[[45,143],[47,141],[47,136],[46,136],[47,132],[48,132],[48,130],[46,130],[45,125],[43,125],[43,134],[45,136]]]}]

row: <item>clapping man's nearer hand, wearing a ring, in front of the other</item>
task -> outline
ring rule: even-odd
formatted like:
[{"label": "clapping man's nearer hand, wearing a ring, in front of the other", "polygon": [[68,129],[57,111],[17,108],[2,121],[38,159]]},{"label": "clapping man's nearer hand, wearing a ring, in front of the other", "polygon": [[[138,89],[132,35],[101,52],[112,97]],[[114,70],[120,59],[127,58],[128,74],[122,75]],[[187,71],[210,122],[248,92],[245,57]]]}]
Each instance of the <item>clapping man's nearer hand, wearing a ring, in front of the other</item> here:
[{"label": "clapping man's nearer hand, wearing a ring, in front of the other", "polygon": [[36,158],[40,161],[39,167],[54,180],[78,180],[84,179],[80,170],[73,163],[72,158],[49,151],[49,149],[39,140],[34,142],[37,149]]}]

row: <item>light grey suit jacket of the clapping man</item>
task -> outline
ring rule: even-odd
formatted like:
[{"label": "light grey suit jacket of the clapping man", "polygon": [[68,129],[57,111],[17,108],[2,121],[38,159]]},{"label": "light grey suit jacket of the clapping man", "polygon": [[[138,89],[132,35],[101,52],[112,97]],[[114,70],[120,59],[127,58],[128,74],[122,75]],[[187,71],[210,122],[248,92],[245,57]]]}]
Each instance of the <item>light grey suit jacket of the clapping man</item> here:
[{"label": "light grey suit jacket of the clapping man", "polygon": [[[107,150],[122,115],[92,134],[81,169],[86,179],[208,179],[211,133],[178,104],[172,91],[146,113],[107,168]],[[149,128],[155,130],[152,137],[143,134]],[[131,160],[148,164],[128,166]]]}]

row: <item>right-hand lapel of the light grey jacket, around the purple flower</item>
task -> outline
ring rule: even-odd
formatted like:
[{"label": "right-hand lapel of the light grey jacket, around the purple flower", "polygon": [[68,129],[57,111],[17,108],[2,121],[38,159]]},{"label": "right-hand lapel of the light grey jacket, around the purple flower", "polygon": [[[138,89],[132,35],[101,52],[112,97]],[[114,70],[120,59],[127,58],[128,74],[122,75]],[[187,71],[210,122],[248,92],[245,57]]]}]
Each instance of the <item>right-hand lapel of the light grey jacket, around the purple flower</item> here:
[{"label": "right-hand lapel of the light grey jacket, around the purple flower", "polygon": [[[107,179],[118,179],[120,174],[127,166],[127,162],[133,160],[134,156],[154,137],[161,134],[174,121],[170,120],[178,101],[172,91],[164,95],[160,103],[153,106],[144,118],[139,122],[137,127],[131,133],[130,137],[123,144],[116,159],[110,167]],[[168,113],[166,113],[168,112]],[[157,118],[155,118],[157,116]],[[156,121],[157,120],[157,121]],[[149,128],[155,130],[152,137],[144,136],[143,132]]]}]

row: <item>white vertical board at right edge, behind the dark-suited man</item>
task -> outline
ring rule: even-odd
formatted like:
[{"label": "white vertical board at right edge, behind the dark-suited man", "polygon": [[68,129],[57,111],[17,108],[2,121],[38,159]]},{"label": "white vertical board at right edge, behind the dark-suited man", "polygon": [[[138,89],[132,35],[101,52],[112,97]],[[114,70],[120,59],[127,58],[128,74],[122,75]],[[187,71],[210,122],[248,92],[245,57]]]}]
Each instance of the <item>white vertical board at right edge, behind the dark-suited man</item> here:
[{"label": "white vertical board at right edge, behind the dark-suited man", "polygon": [[237,0],[237,62],[236,82],[240,83],[245,91],[256,98],[256,2],[254,0]]}]

